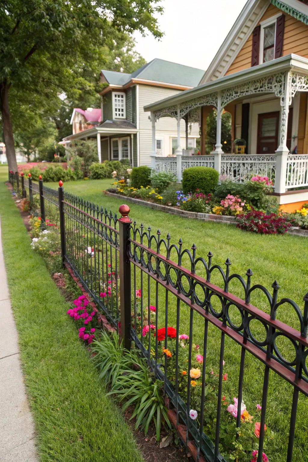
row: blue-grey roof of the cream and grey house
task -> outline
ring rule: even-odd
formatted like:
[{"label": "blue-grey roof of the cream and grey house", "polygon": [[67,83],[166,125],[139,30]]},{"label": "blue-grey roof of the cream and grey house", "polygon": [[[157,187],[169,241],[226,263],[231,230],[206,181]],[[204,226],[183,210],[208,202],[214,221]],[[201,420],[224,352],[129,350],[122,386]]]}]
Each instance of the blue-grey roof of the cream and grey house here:
[{"label": "blue-grey roof of the cream and grey house", "polygon": [[105,70],[102,70],[102,74],[109,85],[126,85],[132,79],[138,79],[194,87],[198,85],[204,71],[155,58],[131,74]]}]

